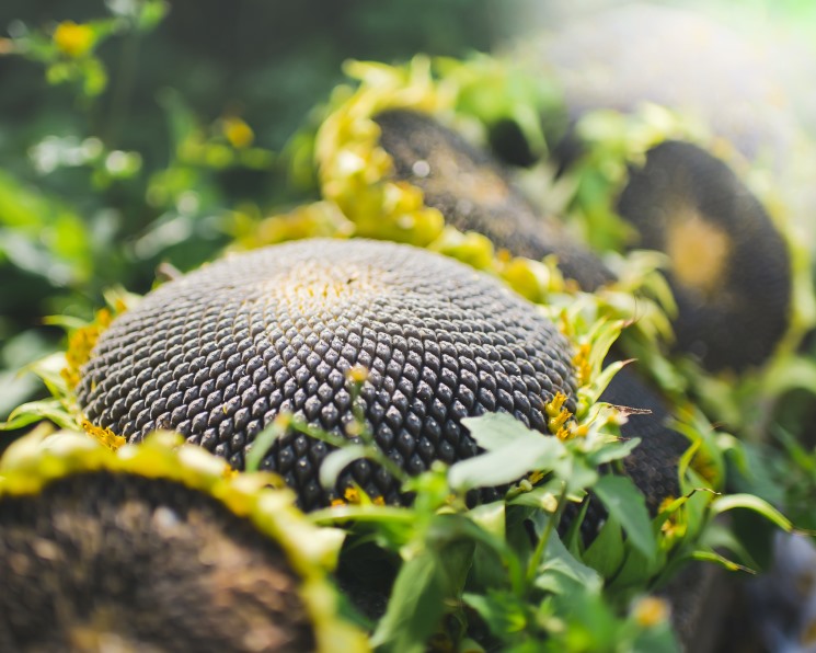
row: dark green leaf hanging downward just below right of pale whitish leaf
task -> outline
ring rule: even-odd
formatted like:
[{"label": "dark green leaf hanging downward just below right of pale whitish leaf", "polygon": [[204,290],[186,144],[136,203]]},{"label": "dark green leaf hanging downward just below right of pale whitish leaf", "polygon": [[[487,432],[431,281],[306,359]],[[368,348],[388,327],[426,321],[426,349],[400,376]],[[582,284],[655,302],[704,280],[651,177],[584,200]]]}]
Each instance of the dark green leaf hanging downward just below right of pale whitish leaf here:
[{"label": "dark green leaf hanging downward just below right of pale whitish leaf", "polygon": [[657,552],[657,543],[652,530],[646,502],[643,494],[627,477],[606,474],[598,479],[593,491],[609,511],[610,516],[618,519],[629,540],[647,559],[653,560]]}]

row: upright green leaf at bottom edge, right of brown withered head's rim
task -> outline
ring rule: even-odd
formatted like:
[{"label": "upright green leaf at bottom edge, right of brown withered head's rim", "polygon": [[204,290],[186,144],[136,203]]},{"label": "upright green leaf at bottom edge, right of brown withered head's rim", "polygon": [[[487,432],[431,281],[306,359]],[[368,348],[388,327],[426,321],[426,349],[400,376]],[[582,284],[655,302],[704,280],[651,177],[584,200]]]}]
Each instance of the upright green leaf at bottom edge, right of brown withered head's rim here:
[{"label": "upright green leaf at bottom edge, right of brown withered head's rim", "polygon": [[432,551],[402,565],[370,643],[379,651],[423,653],[443,615],[443,578]]}]

